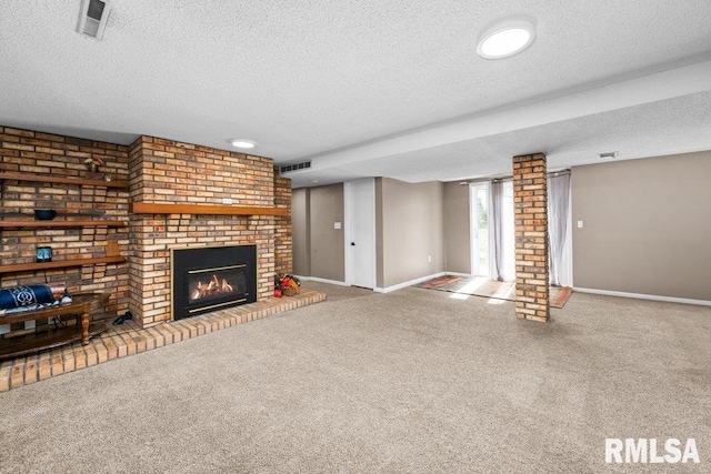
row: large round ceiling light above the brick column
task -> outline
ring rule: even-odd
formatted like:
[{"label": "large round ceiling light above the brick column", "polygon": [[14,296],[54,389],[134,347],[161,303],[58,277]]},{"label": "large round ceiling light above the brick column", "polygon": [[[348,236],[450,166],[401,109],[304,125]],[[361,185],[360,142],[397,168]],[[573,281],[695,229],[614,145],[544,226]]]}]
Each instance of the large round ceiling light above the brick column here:
[{"label": "large round ceiling light above the brick column", "polygon": [[484,59],[503,59],[518,54],[533,44],[535,27],[524,18],[510,18],[489,28],[477,43],[477,53]]}]

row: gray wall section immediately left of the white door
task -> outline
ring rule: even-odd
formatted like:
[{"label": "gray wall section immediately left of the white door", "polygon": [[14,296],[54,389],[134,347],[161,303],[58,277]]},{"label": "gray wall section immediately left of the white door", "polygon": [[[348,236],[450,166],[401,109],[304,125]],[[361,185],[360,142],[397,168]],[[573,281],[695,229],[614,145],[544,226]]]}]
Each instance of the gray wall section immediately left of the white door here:
[{"label": "gray wall section immediately left of the white door", "polygon": [[311,188],[309,191],[311,274],[308,276],[346,281],[343,225],[333,229],[334,222],[343,222],[343,184]]}]

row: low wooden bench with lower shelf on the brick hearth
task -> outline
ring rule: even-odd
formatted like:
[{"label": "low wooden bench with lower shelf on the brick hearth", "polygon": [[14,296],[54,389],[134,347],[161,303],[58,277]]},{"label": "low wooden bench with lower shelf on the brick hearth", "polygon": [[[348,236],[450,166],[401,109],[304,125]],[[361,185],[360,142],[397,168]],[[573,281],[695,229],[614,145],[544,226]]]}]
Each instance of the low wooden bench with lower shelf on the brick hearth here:
[{"label": "low wooden bench with lower shelf on the brick hearth", "polygon": [[17,337],[1,339],[0,360],[19,357],[76,341],[81,341],[82,345],[88,345],[92,335],[99,334],[107,327],[104,321],[90,322],[91,310],[104,305],[108,300],[108,293],[78,293],[72,296],[72,302],[69,304],[0,315],[0,324],[71,315],[79,317],[76,326],[53,327]]}]

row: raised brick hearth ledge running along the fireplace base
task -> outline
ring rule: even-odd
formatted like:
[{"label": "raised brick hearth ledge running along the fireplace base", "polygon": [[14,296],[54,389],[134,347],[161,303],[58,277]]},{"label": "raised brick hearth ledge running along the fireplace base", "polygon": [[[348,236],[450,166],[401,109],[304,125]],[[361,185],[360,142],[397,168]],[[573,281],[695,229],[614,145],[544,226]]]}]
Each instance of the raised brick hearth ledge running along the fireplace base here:
[{"label": "raised brick hearth ledge running along the fireplace base", "polygon": [[302,289],[296,296],[271,297],[252,304],[172,321],[142,329],[133,321],[111,325],[92,337],[89,345],[67,344],[37,354],[0,363],[0,392],[18,389],[46,379],[126,357],[168,344],[198,337],[248,321],[296,310],[326,300],[326,294]]}]

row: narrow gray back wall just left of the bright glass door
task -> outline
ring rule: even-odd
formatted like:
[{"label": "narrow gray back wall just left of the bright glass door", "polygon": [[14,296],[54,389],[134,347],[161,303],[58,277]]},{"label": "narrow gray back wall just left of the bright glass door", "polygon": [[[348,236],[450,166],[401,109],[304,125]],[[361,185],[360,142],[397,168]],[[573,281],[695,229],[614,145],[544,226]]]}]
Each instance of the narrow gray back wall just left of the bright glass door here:
[{"label": "narrow gray back wall just left of the bright glass door", "polygon": [[471,273],[469,185],[444,183],[444,268]]}]

